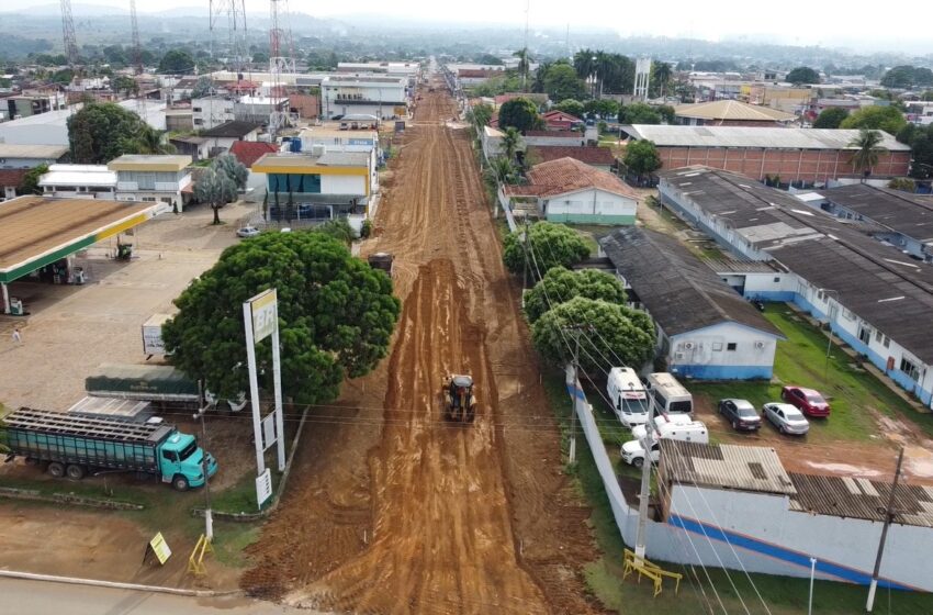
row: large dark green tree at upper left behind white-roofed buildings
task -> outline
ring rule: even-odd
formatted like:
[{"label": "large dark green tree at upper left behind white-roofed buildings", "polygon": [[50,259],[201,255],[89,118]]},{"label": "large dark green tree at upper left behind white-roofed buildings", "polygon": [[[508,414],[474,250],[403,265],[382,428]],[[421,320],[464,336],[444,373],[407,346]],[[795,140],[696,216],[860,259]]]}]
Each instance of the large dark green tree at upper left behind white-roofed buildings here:
[{"label": "large dark green tree at upper left behind white-roofed buildings", "polygon": [[138,154],[138,137],[149,131],[138,115],[113,102],[90,102],[68,118],[71,157],[79,165],[106,164]]}]

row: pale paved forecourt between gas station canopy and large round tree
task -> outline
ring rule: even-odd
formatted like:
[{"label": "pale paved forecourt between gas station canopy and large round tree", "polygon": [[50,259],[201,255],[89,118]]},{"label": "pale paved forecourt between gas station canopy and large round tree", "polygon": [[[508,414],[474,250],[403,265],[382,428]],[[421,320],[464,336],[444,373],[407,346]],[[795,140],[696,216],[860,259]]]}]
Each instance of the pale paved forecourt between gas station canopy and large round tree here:
[{"label": "pale paved forecourt between gas station canopy and large round tree", "polygon": [[[67,410],[82,396],[86,376],[101,362],[143,362],[140,325],[171,311],[171,301],[238,239],[238,222],[255,205],[232,204],[226,224],[211,224],[210,208],[162,214],[136,230],[130,261],[111,258],[115,247],[97,244],[77,257],[85,286],[13,282],[26,318],[0,320],[0,403]],[[126,241],[123,237],[121,241]],[[12,339],[20,326],[22,342]],[[153,358],[153,361],[158,360]]]}]

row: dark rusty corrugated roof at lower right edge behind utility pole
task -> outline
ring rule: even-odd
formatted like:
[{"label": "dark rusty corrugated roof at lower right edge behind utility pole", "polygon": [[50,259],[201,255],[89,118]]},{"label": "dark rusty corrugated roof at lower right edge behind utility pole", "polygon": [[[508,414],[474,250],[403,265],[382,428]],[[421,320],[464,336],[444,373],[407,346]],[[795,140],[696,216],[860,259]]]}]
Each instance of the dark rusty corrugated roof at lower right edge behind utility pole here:
[{"label": "dark rusty corrugated roof at lower right edge behind utility pole", "polygon": [[[790,510],[868,521],[884,521],[891,494],[890,482],[851,477],[791,473],[796,493]],[[933,527],[933,487],[898,484],[893,523]]]}]

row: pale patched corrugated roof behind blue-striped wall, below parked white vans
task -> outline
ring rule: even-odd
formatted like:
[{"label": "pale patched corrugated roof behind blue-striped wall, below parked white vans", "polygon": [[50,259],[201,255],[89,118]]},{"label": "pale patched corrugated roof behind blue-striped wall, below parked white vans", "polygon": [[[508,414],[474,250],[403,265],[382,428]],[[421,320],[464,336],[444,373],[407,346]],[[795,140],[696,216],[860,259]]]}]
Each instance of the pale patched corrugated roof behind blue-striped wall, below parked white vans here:
[{"label": "pale patched corrugated roof behind blue-striped wall, below parked white vans", "polygon": [[661,440],[661,476],[698,487],[793,495],[796,488],[773,448]]}]

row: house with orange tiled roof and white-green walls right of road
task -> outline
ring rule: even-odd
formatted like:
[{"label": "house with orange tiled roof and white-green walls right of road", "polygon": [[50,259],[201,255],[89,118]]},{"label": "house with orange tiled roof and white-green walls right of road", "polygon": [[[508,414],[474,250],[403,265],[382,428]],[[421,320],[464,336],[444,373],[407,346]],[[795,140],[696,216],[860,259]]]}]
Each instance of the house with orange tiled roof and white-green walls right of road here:
[{"label": "house with orange tiled roof and white-green walls right of road", "polygon": [[550,222],[634,224],[638,194],[612,174],[573,158],[535,165],[528,183],[507,186],[505,195],[532,199]]}]

